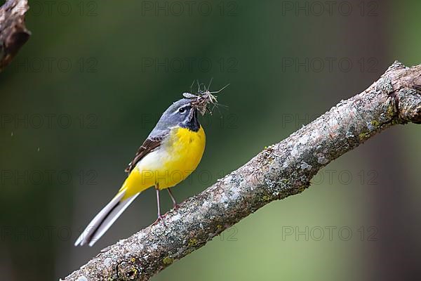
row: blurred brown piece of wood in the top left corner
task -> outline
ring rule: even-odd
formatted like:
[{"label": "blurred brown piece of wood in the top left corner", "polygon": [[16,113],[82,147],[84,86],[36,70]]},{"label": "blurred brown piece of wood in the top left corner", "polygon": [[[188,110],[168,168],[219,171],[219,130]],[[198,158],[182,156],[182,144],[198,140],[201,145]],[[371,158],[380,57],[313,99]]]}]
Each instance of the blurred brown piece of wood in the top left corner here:
[{"label": "blurred brown piece of wood in the top left corner", "polygon": [[29,39],[31,33],[25,27],[28,9],[27,0],[7,0],[0,7],[0,72]]}]

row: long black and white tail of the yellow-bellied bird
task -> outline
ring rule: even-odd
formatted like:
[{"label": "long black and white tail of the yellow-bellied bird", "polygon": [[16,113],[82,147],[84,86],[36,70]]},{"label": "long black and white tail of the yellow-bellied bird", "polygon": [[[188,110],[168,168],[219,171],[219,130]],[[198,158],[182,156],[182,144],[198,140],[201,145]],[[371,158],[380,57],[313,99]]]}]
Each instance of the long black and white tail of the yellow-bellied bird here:
[{"label": "long black and white tail of the yellow-bellied bird", "polygon": [[83,246],[89,244],[92,246],[100,239],[117,218],[123,213],[128,205],[138,197],[139,193],[131,197],[124,197],[126,189],[119,193],[93,218],[91,223],[83,230],[83,233],[74,242],[74,246]]}]

